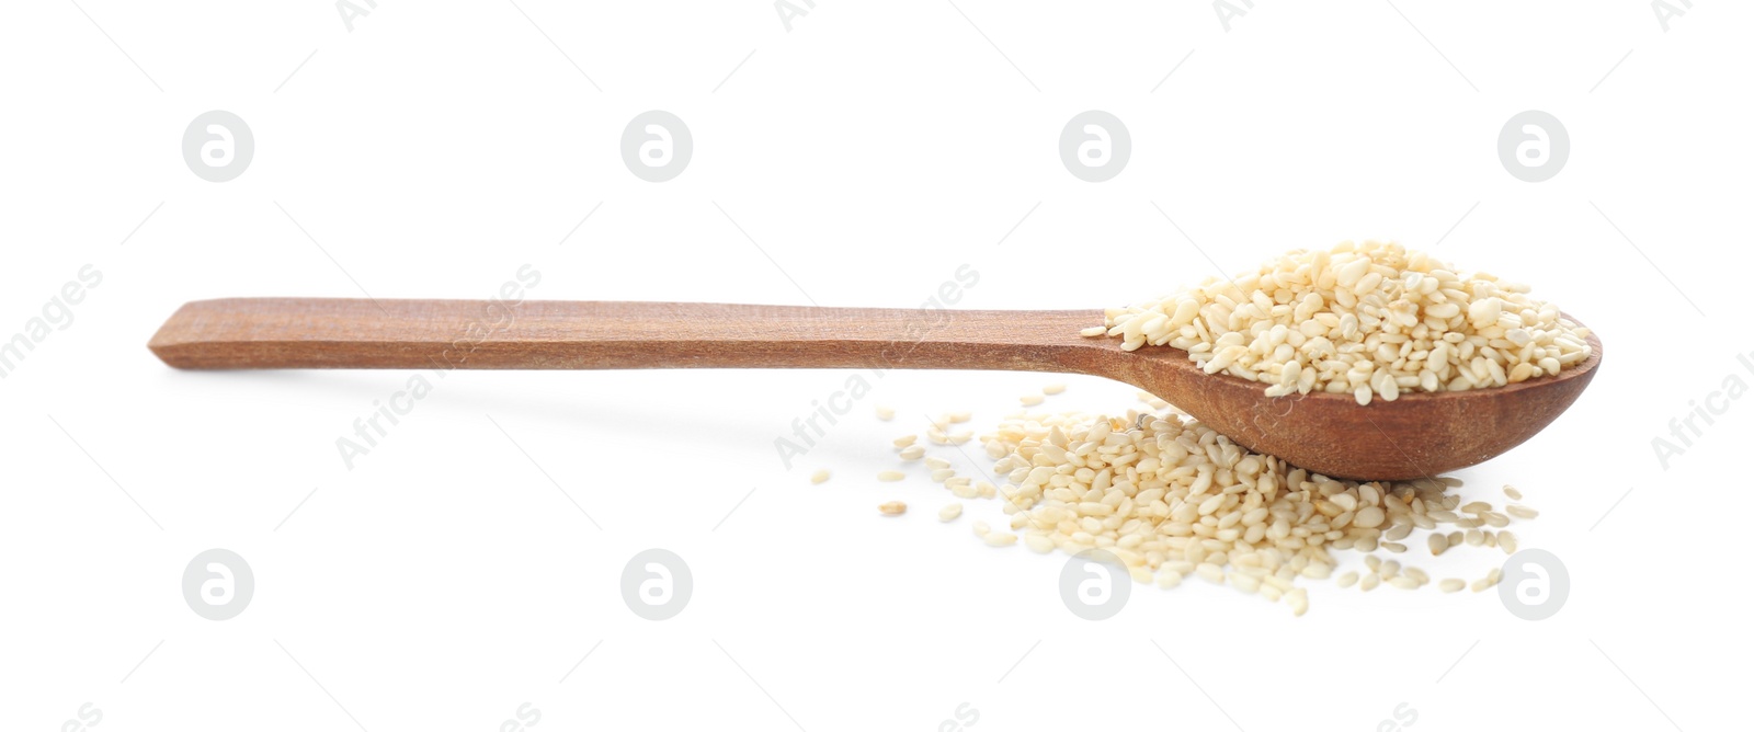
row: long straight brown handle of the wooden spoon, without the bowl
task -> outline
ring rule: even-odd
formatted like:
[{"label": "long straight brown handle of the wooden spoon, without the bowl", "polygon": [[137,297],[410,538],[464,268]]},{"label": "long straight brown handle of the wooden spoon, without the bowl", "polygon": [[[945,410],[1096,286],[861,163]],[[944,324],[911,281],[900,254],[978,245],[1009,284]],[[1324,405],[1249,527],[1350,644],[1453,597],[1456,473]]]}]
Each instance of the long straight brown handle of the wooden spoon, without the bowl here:
[{"label": "long straight brown handle of the wooden spoon, without the bowl", "polygon": [[[954,368],[1089,371],[1100,310],[205,299],[149,347],[184,370]],[[1086,362],[1091,361],[1091,362]]]}]

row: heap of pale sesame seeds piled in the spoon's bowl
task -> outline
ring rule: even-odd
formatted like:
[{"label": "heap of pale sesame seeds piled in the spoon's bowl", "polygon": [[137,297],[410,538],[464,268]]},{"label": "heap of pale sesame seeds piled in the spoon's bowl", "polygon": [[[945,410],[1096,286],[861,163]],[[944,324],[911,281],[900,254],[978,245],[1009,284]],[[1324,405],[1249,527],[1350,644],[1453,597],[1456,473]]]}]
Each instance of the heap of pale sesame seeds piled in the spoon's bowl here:
[{"label": "heap of pale sesame seeds piled in the spoon's bowl", "polygon": [[1294,250],[1237,278],[1126,308],[1084,336],[1186,350],[1207,373],[1266,384],[1268,396],[1326,391],[1394,401],[1559,373],[1589,357],[1589,329],[1528,285],[1456,271],[1398,243]]}]

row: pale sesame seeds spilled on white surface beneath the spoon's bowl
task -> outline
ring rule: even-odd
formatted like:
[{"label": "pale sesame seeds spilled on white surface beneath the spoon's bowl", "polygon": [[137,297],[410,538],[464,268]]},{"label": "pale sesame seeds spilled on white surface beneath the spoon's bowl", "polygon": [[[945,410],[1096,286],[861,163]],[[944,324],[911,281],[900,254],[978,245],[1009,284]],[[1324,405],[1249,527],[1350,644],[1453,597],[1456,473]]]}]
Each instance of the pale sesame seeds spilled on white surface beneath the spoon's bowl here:
[{"label": "pale sesame seeds spilled on white surface beneath the spoon's bowl", "polygon": [[[1508,555],[1517,550],[1515,534],[1507,531],[1512,517],[1535,515],[1526,506],[1496,511],[1486,501],[1463,504],[1451,492],[1461,485],[1456,478],[1359,483],[1312,475],[1179,415],[1017,413],[982,443],[996,461],[995,473],[1009,483],[998,496],[1016,532],[977,522],[975,536],[988,545],[1009,546],[1021,536],[1040,553],[1103,550],[1135,581],[1172,588],[1198,574],[1284,601],[1294,615],[1308,609],[1298,581],[1330,578],[1340,566],[1338,552],[1366,553],[1368,567],[1363,580],[1358,573],[1340,576],[1340,587],[1414,590],[1431,581],[1422,569],[1368,553],[1403,553],[1401,541],[1421,529],[1430,532],[1433,555],[1459,545],[1496,546]],[[944,471],[933,478],[966,485]],[[984,490],[954,492],[973,497]],[[1505,494],[1521,497],[1510,487]],[[1473,592],[1498,583],[1496,564],[1472,583]],[[1444,592],[1463,587],[1468,583],[1459,578],[1438,583]]]}]

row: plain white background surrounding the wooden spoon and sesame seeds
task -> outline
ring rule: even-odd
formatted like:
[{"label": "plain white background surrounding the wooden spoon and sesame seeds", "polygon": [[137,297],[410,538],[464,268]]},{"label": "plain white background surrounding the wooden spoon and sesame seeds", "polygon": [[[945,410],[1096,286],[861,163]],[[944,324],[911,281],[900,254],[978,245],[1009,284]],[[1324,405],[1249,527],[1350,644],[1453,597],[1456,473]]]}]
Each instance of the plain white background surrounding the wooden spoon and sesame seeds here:
[{"label": "plain white background surrounding the wooden spoon and sesame seeds", "polygon": [[[1754,384],[1749,7],[1665,32],[1631,0],[1261,0],[1226,32],[1205,2],[819,0],[788,32],[759,0],[519,5],[381,0],[351,32],[317,0],[9,7],[0,338],[81,266],[103,280],[0,380],[4,727],[88,702],[100,730],[486,732],[524,702],[537,728],[937,730],[965,702],[975,730],[1731,720],[1754,406],[1666,469],[1651,441]],[[212,109],[254,131],[232,182],[181,158]],[[695,138],[663,184],[619,158],[649,109]],[[1109,182],[1058,158],[1086,109],[1131,131]],[[1572,140],[1540,184],[1496,154],[1526,109]],[[1570,567],[1551,620],[1331,583],[1293,618],[1198,581],[1079,620],[1063,555],[970,534],[995,503],[940,525],[917,468],[873,480],[928,415],[984,429],[1044,375],[891,373],[788,471],[774,438],[845,373],[453,373],[349,471],[335,440],[407,375],[144,347],[188,299],[488,298],[526,263],[542,299],[916,306],[970,264],[956,306],[1096,308],[1372,236],[1531,282],[1607,343],[1572,412],[1459,473],[1542,510],[1519,534]],[[1049,406],[1137,405],[1063,382]],[[181,595],[214,546],[256,576],[226,622]],[[651,546],[695,576],[665,622],[619,592]]]}]

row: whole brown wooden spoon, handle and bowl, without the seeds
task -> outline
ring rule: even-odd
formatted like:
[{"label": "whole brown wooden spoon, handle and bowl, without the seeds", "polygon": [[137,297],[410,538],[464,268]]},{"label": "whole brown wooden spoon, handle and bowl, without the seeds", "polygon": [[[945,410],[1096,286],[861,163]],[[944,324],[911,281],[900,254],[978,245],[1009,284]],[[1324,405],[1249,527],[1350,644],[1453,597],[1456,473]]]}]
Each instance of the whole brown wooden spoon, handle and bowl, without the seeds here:
[{"label": "whole brown wooden spoon, handle and bowl, without the seeds", "polygon": [[[149,347],[184,370],[951,368],[1087,373],[1149,391],[1237,443],[1337,478],[1408,480],[1517,447],[1577,399],[1589,359],[1498,389],[1268,398],[1187,352],[1082,338],[1102,310],[875,310],[253,298],[188,303]],[[1573,320],[1575,322],[1575,320]]]}]

